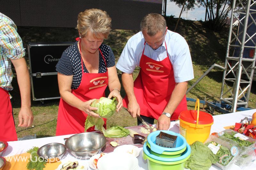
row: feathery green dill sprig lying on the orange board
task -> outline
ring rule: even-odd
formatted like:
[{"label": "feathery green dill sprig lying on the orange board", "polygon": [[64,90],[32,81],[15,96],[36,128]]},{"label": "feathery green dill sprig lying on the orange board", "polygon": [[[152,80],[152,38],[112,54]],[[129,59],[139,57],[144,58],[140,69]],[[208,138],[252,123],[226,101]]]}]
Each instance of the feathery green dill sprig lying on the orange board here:
[{"label": "feathery green dill sprig lying on the orange board", "polygon": [[43,170],[45,168],[46,162],[41,157],[38,157],[37,150],[38,147],[33,147],[29,149],[27,152],[30,153],[30,158],[27,164],[27,168],[29,170]]}]

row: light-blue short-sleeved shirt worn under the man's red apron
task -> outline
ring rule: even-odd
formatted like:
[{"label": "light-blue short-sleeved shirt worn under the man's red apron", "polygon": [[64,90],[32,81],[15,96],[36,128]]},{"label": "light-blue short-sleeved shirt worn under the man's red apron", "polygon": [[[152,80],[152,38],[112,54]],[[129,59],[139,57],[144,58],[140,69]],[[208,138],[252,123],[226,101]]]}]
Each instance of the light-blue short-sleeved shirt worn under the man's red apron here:
[{"label": "light-blue short-sleeved shirt worn under the man's red apron", "polygon": [[[186,40],[180,34],[167,30],[164,41],[166,42],[167,52],[172,63],[175,82],[180,83],[193,79],[193,66]],[[141,32],[133,35],[127,41],[116,64],[116,68],[124,73],[131,74],[136,66],[140,65],[144,42],[145,40]],[[164,60],[167,57],[165,43],[156,50],[146,43],[144,55],[155,61]]]}]

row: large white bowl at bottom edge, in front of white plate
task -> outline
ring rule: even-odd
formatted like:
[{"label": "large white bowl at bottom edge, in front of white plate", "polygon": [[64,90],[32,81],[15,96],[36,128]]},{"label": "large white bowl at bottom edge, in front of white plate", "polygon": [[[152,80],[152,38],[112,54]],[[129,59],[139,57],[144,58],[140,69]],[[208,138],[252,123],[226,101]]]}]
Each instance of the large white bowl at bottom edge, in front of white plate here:
[{"label": "large white bowl at bottom edge, in front of white plate", "polygon": [[111,152],[98,159],[98,170],[134,170],[138,159],[130,153]]}]

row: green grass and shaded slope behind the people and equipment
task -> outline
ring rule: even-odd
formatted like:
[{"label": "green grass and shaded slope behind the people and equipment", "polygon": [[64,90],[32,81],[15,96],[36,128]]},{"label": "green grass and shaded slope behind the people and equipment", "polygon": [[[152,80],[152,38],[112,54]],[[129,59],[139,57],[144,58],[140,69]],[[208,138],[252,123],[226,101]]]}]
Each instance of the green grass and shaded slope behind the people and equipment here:
[{"label": "green grass and shaded slope behind the people and equipment", "polygon": [[[167,26],[173,30],[176,24],[176,18],[168,19]],[[75,41],[78,36],[75,28],[49,28],[49,27],[18,27],[18,32],[23,40],[23,45],[27,48],[28,42],[43,42],[43,41]],[[104,41],[108,44],[115,56],[116,61],[122,53],[122,50],[127,40],[137,33],[132,30],[112,30],[109,38]],[[228,28],[225,28],[221,33],[214,33],[205,28],[202,22],[180,20],[177,32],[180,33],[188,42],[190,53],[193,61],[195,78],[189,81],[190,87],[204,72],[214,63],[223,66],[225,62],[225,53],[227,48]],[[28,53],[26,54],[28,57]],[[134,71],[134,78],[139,73],[139,68]],[[205,78],[203,78],[187,95],[189,98],[218,101],[220,98],[221,81],[223,71],[213,69]],[[121,72],[118,70],[118,77],[121,81]],[[37,137],[55,136],[57,115],[58,115],[58,100],[45,100],[44,104],[40,101],[32,101],[31,109],[34,113],[34,128],[20,128],[18,125],[18,113],[20,110],[20,92],[17,85],[17,79],[13,79],[12,83],[14,90],[10,93],[13,96],[12,106],[14,119],[16,122],[16,130],[18,137],[26,135],[34,135]],[[249,107],[255,108],[256,102],[256,83],[253,82]],[[106,91],[108,94],[108,90]],[[121,95],[124,97],[124,89],[121,89]],[[194,109],[195,103],[188,102],[188,109]],[[205,106],[207,107],[207,106]],[[203,105],[200,104],[200,108]],[[221,114],[215,111],[214,114]],[[156,122],[155,122],[156,123]],[[132,118],[125,109],[121,109],[113,117],[108,119],[107,126],[120,125],[123,127],[137,125],[137,120]]]}]

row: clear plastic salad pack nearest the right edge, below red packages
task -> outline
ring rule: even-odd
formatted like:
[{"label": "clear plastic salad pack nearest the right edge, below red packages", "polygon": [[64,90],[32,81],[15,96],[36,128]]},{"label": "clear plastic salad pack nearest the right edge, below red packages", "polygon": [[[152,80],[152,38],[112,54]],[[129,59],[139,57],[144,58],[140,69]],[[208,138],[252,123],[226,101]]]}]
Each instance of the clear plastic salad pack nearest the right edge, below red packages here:
[{"label": "clear plastic salad pack nearest the right edge, below red packages", "polygon": [[224,140],[232,145],[235,145],[239,151],[239,158],[236,159],[235,164],[244,168],[250,166],[255,157],[256,139],[245,136],[231,129],[226,129],[217,133],[216,137]]}]

